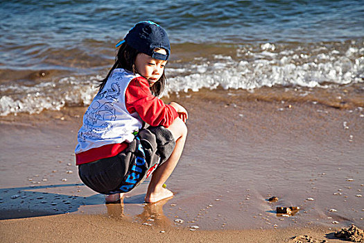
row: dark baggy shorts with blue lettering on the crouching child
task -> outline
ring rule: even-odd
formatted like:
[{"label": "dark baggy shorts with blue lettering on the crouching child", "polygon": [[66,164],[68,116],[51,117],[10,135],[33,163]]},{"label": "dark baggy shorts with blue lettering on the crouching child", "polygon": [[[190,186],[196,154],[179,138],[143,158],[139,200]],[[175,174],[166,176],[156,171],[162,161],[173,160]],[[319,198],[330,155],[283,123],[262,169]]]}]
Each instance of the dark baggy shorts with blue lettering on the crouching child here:
[{"label": "dark baggy shorts with blue lettering on the crouching child", "polygon": [[98,193],[129,192],[162,165],[174,148],[171,131],[150,126],[141,129],[117,156],[79,165],[78,174],[87,187]]}]

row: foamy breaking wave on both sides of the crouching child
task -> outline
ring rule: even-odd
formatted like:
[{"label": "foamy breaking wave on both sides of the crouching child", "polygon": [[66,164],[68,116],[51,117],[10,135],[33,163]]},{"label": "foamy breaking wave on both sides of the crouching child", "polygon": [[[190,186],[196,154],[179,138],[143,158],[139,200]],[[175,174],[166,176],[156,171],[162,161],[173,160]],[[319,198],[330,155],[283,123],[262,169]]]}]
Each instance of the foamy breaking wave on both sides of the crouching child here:
[{"label": "foamy breaking wave on both sides of the crouching child", "polygon": [[[255,43],[213,49],[197,44],[175,48],[177,59],[166,69],[164,96],[198,92],[202,88],[256,90],[261,87],[320,87],[361,84],[364,81],[364,41],[320,43]],[[218,51],[217,51],[218,50]],[[191,53],[188,60],[182,53]],[[229,53],[229,54],[227,54]],[[179,56],[180,55],[180,56]],[[60,110],[64,106],[87,106],[97,92],[100,74],[53,77],[35,85],[0,85],[0,115]]]}]

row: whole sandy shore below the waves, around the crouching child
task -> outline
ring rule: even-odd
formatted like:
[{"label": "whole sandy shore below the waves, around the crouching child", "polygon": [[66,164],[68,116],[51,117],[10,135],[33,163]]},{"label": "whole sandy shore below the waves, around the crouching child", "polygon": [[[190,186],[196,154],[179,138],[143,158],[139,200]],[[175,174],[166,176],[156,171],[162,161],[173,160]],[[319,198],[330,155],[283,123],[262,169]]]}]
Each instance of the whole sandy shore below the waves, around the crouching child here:
[{"label": "whole sandy shore below the waves, around the crouching child", "polygon": [[[338,228],[363,228],[363,110],[247,97],[203,90],[170,98],[189,110],[189,137],[166,183],[175,196],[155,208],[143,204],[148,181],[113,206],[80,182],[73,149],[85,108],[2,117],[1,242],[284,242],[309,233],[331,242],[325,234]],[[277,206],[301,210],[279,217]]]}]

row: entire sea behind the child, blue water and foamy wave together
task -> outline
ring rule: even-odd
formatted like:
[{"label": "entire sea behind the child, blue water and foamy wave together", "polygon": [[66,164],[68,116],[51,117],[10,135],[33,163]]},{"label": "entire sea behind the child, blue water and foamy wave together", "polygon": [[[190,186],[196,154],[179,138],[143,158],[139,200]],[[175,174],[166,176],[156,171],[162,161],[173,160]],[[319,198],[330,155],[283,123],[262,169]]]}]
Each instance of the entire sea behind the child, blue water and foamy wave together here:
[{"label": "entire sea behind the child, blue water and foamy wave together", "polygon": [[167,92],[364,80],[364,1],[1,1],[0,115],[89,103],[114,44],[153,20]]}]

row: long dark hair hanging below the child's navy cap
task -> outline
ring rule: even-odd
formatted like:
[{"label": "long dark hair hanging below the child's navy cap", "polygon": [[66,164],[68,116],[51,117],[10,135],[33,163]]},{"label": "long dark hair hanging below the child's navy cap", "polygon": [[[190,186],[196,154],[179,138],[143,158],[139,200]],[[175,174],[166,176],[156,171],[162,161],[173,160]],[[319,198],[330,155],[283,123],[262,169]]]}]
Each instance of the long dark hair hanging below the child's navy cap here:
[{"label": "long dark hair hanging below the child's navy cap", "polygon": [[[107,76],[103,80],[101,80],[100,85],[98,85],[98,87],[100,87],[98,92],[101,92],[101,90],[103,90],[103,87],[105,86],[107,79],[109,79],[110,74],[112,73],[112,71],[114,69],[122,68],[122,69],[125,69],[126,71],[135,73],[136,72],[135,66],[134,66],[135,58],[137,58],[137,55],[139,53],[141,53],[141,52],[138,51],[137,49],[130,47],[128,44],[126,44],[126,42],[121,44],[119,51],[116,53],[114,65],[112,65],[112,68],[107,73]],[[166,75],[164,74],[164,70],[163,70],[162,76],[159,78],[158,81],[156,81],[150,87],[150,91],[152,92],[152,94],[154,96],[159,97],[162,94],[165,85],[166,85]]]}]

